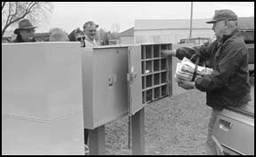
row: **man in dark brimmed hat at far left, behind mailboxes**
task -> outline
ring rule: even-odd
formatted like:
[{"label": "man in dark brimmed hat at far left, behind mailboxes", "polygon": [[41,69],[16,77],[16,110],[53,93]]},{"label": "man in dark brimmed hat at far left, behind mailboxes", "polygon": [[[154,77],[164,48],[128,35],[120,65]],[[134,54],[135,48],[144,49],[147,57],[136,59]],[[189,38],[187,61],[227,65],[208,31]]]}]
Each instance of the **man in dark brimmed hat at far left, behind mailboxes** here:
[{"label": "man in dark brimmed hat at far left, behind mailboxes", "polygon": [[14,34],[16,34],[17,37],[12,43],[36,42],[34,38],[35,28],[36,27],[34,27],[29,20],[20,20],[19,28],[14,30]]}]

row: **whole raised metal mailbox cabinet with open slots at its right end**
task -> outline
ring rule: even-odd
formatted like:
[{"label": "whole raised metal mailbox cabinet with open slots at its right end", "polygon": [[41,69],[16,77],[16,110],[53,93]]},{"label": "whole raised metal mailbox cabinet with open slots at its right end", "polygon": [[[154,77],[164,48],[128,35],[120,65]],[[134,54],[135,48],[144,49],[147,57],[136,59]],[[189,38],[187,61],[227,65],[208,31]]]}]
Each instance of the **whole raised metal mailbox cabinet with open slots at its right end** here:
[{"label": "whole raised metal mailbox cabinet with open slots at its right end", "polygon": [[172,95],[171,43],[83,48],[84,127],[95,129]]}]

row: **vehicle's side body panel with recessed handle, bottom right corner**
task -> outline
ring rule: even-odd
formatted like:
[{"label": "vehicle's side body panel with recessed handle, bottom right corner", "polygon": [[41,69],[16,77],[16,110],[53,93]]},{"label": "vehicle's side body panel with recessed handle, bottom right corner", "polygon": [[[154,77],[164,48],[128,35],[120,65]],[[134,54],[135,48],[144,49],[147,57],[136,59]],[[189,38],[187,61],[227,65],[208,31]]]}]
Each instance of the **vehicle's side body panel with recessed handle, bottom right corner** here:
[{"label": "vehicle's side body panel with recessed handle, bottom right corner", "polygon": [[220,112],[212,134],[220,144],[236,153],[254,154],[254,119],[228,109]]}]

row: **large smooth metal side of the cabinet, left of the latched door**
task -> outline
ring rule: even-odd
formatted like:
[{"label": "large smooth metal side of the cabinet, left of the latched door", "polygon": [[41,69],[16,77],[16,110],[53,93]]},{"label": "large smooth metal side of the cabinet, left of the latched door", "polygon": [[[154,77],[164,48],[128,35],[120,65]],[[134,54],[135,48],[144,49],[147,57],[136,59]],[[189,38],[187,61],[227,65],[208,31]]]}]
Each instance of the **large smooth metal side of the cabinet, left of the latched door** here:
[{"label": "large smooth metal side of the cabinet, left of the latched door", "polygon": [[83,48],[84,128],[128,113],[128,47]]}]

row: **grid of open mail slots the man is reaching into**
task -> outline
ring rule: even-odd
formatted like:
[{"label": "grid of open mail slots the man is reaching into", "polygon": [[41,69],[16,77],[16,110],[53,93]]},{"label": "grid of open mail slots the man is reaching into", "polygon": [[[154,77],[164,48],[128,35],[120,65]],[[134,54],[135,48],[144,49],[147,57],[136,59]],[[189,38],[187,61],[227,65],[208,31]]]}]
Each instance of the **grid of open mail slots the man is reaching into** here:
[{"label": "grid of open mail slots the man is reaching into", "polygon": [[171,62],[161,57],[161,50],[171,50],[172,44],[141,45],[142,103],[150,103],[171,94]]}]

